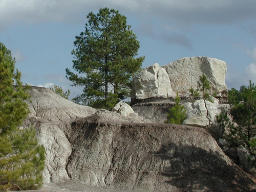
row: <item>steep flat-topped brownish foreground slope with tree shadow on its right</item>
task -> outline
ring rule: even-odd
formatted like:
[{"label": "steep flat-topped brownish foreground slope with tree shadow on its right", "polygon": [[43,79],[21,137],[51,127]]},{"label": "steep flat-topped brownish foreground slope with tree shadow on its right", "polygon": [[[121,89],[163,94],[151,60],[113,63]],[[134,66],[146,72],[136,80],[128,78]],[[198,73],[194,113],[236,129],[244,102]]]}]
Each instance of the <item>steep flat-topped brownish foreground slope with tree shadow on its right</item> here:
[{"label": "steep flat-topped brownish foreground slope with tree shadow on its right", "polygon": [[90,121],[72,124],[72,180],[143,191],[250,191],[245,174],[203,129]]}]

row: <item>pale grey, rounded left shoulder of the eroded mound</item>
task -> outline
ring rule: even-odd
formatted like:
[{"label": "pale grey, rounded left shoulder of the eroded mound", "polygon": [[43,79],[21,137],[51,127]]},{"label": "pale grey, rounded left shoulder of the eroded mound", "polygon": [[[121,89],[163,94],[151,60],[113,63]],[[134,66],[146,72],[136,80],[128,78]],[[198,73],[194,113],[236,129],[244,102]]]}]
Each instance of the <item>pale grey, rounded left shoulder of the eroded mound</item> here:
[{"label": "pale grey, rounded left shoulder of the eroded mound", "polygon": [[30,114],[25,126],[36,129],[39,143],[46,148],[44,182],[62,182],[69,179],[66,164],[72,152],[66,133],[76,118],[91,115],[97,109],[74,104],[43,87],[32,87],[29,93]]}]

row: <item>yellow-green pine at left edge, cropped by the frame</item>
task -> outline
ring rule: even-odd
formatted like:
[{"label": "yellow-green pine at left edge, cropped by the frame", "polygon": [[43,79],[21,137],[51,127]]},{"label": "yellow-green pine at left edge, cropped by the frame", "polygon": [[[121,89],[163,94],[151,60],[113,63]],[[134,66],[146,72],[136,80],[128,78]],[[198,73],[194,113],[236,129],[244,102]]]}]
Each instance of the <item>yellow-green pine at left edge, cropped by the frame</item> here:
[{"label": "yellow-green pine at left edge, cropped by the frame", "polygon": [[11,52],[0,42],[0,190],[32,189],[42,182],[44,147],[33,128],[19,128],[29,113],[29,86],[22,86],[20,76]]}]

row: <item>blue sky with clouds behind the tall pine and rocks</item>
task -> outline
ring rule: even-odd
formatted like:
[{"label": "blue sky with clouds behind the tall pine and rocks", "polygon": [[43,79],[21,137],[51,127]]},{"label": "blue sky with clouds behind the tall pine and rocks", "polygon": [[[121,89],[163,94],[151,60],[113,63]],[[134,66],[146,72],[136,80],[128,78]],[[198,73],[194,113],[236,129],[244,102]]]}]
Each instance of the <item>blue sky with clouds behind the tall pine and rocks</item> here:
[{"label": "blue sky with clouds behind the tall pine and rocks", "polygon": [[75,36],[89,12],[119,10],[140,41],[143,67],[183,57],[207,56],[227,63],[226,84],[256,83],[255,0],[0,0],[0,41],[16,58],[22,81],[70,89]]}]

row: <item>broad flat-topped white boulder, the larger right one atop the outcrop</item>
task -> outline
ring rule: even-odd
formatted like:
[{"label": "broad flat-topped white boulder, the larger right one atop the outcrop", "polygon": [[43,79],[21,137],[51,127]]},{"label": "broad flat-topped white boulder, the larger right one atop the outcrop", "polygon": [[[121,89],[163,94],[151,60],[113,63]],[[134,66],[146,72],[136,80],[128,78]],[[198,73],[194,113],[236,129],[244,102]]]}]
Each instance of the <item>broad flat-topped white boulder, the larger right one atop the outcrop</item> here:
[{"label": "broad flat-topped white boulder, the larger right one atop the outcrop", "polygon": [[227,89],[225,75],[227,65],[224,61],[209,57],[186,57],[163,66],[166,70],[171,87],[176,92],[185,93],[190,87],[197,87],[202,74],[208,77],[211,92]]}]

